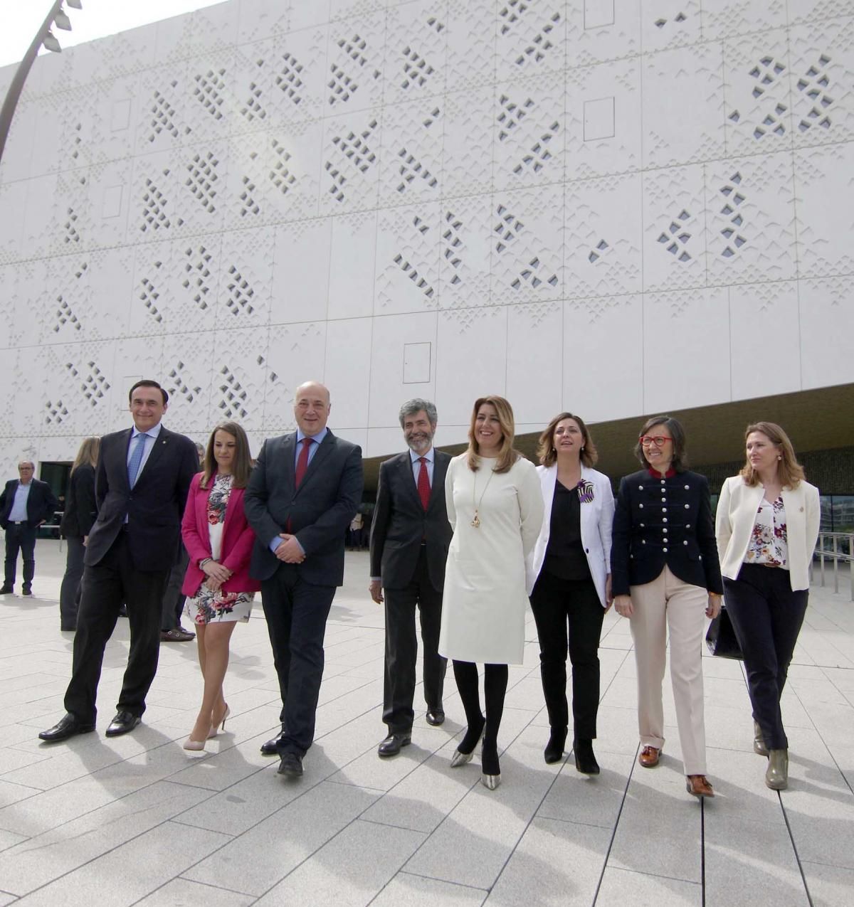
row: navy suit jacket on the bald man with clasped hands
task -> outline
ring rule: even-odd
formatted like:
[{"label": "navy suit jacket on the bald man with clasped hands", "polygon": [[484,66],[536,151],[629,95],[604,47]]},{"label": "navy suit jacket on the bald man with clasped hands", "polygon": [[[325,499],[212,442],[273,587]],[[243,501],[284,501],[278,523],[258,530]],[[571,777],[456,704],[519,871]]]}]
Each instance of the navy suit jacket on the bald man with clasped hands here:
[{"label": "navy suit jacket on the bald man with clasped hands", "polygon": [[305,561],[294,565],[299,576],[316,586],[340,586],[345,532],[362,500],[362,449],[328,431],[297,489],[296,447],[296,432],[268,438],[243,495],[256,535],[250,575],[270,579],[283,563],[270,551],[270,541],[292,532],[306,552]]}]

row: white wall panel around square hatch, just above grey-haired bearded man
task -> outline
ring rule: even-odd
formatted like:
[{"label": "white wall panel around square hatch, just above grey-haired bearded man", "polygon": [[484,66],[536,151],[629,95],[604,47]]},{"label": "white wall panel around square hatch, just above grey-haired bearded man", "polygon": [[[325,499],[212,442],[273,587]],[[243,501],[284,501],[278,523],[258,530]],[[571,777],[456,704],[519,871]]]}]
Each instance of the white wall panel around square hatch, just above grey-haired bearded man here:
[{"label": "white wall panel around square hatch, just above grey-haired bearded man", "polygon": [[435,374],[422,384],[405,383],[404,356],[407,344],[437,343],[437,313],[391,315],[373,320],[368,425],[394,425],[398,424],[398,409],[404,400],[414,396],[435,398]]}]

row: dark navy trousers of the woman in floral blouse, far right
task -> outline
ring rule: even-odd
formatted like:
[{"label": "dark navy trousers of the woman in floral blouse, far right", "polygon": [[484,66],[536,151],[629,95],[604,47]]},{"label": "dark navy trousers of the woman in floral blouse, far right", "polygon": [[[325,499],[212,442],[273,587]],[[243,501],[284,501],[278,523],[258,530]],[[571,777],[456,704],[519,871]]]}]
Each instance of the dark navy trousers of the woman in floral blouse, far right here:
[{"label": "dark navy trousers of the woman in floral blouse, far right", "polygon": [[788,749],[780,696],[807,612],[809,590],[792,591],[789,571],[742,564],[737,580],[723,578],[726,607],[744,653],[753,717],[769,749]]}]

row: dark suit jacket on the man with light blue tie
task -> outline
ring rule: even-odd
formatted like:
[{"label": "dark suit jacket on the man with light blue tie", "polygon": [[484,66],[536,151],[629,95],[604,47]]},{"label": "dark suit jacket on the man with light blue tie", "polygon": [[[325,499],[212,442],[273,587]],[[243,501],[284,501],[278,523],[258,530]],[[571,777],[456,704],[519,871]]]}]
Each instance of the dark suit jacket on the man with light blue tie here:
[{"label": "dark suit jacket on the man with light blue tie", "polygon": [[178,551],[184,504],[199,469],[199,455],[190,438],[161,427],[132,490],[127,475],[131,434],[126,428],[101,439],[95,469],[98,517],[89,532],[83,562],[93,567],[102,561],[122,532],[127,515],[135,569],[169,571]]}]

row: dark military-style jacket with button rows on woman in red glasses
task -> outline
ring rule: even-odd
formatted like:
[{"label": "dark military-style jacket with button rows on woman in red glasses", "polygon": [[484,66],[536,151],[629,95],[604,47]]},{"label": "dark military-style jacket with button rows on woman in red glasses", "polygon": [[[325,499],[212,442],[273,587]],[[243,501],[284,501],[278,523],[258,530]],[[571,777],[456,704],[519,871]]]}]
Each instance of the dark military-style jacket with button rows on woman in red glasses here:
[{"label": "dark military-style jacket with button rows on woman in red glasses", "polygon": [[683,582],[723,592],[712,526],[709,483],[698,473],[653,476],[648,469],[620,482],[611,545],[611,590],[652,582],[667,565]]}]

